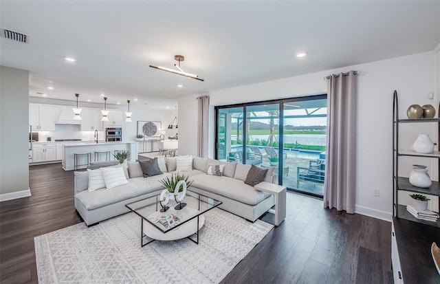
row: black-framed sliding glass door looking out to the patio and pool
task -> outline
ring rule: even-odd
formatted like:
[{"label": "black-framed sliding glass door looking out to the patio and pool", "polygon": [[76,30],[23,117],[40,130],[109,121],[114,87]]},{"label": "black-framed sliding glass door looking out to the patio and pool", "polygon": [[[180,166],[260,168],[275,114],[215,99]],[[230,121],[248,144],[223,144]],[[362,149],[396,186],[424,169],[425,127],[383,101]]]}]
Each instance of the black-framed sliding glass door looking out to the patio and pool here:
[{"label": "black-framed sliding glass door looking out to the patio and pool", "polygon": [[278,184],[322,197],[327,95],[216,107],[216,158],[273,167]]}]

